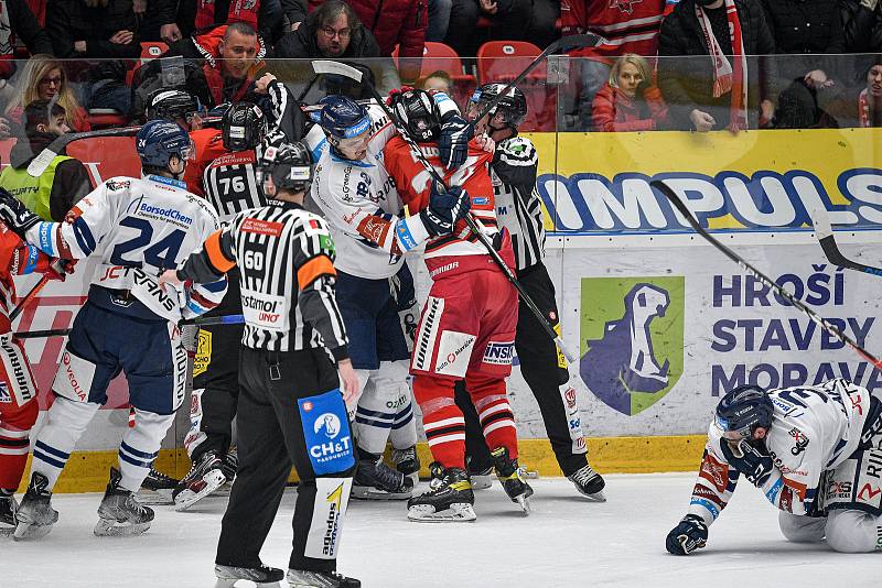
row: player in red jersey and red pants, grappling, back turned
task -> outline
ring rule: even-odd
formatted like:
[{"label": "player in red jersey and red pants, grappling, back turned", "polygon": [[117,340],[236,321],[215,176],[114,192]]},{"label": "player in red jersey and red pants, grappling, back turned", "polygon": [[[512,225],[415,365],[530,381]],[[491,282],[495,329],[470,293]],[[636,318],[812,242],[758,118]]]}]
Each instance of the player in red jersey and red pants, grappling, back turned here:
[{"label": "player in red jersey and red pants, grappling, back turned", "polygon": [[[408,90],[395,98],[394,108],[449,189],[470,195],[475,221],[514,268],[510,238],[496,228],[488,173],[493,154],[473,141],[465,163],[447,171],[434,143],[440,120],[431,97],[423,90]],[[411,214],[426,207],[432,192],[444,189],[400,137],[389,141],[385,165]],[[420,318],[410,373],[429,447],[442,471],[428,492],[408,501],[408,518],[475,519],[474,493],[465,471],[465,422],[453,401],[453,386],[463,379],[492,448],[496,473],[512,501],[527,512],[533,489],[520,476],[515,421],[505,388],[505,378],[512,372],[517,293],[464,220],[456,222],[452,235],[429,240],[426,265],[432,286]]]}]

